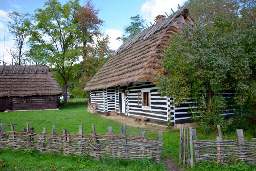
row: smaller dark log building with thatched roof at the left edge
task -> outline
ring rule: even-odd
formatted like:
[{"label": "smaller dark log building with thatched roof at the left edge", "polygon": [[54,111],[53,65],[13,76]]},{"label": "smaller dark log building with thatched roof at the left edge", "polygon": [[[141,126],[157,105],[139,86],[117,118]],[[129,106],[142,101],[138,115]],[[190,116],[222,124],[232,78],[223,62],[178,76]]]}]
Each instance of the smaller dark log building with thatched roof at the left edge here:
[{"label": "smaller dark log building with thatched roof at the left edge", "polygon": [[62,94],[48,66],[0,66],[0,112],[58,110]]}]

